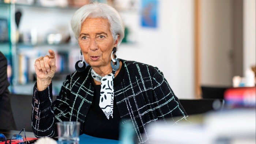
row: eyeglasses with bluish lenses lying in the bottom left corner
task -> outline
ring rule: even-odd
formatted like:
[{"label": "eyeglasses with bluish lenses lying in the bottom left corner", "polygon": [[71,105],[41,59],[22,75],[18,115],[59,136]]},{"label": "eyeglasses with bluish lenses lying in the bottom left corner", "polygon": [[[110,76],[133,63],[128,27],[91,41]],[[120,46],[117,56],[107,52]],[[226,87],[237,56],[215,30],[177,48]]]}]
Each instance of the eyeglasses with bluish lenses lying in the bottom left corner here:
[{"label": "eyeglasses with bluish lenses lying in the bottom left corner", "polygon": [[[24,141],[24,138],[20,135],[20,133],[24,130],[24,136],[25,136],[25,140]],[[4,136],[4,134],[0,133],[0,142],[3,142],[5,141],[5,144],[8,144],[7,143],[7,139],[6,137]],[[25,128],[21,129],[19,134],[14,134],[10,141],[9,141],[9,144],[11,143],[18,143],[18,144],[27,144],[27,138],[26,138],[26,132],[25,132]]]}]

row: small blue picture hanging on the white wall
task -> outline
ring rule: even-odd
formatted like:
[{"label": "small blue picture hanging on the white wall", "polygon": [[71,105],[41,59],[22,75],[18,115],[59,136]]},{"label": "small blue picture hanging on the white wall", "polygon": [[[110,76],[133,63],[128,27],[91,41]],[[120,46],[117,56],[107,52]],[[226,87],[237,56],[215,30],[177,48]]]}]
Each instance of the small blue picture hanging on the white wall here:
[{"label": "small blue picture hanging on the white wall", "polygon": [[141,0],[141,26],[157,27],[158,22],[158,0]]}]

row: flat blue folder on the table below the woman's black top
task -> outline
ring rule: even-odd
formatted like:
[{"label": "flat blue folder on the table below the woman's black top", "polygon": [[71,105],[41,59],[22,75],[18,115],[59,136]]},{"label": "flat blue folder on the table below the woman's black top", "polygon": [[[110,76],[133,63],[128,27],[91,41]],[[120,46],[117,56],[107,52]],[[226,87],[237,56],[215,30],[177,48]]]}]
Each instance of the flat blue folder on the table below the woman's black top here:
[{"label": "flat blue folder on the table below the woman's black top", "polygon": [[119,140],[109,140],[102,139],[98,137],[88,136],[86,134],[82,134],[79,136],[79,144],[120,144]]}]

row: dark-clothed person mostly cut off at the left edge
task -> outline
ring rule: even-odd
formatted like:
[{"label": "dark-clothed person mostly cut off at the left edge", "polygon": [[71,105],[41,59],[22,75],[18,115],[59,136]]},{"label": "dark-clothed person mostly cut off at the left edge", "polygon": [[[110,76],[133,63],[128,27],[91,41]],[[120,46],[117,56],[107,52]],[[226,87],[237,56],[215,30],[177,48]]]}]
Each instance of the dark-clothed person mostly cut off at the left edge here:
[{"label": "dark-clothed person mostly cut off at the left edge", "polygon": [[15,130],[10,98],[8,97],[9,82],[7,79],[7,60],[0,52],[0,129]]}]

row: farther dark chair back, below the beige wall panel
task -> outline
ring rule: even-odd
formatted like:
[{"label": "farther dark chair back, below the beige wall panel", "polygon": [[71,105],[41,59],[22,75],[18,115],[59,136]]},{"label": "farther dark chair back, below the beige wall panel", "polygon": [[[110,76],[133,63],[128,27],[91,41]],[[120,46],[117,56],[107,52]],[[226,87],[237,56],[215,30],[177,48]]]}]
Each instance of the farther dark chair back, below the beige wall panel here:
[{"label": "farther dark chair back, below the beige wall panel", "polygon": [[210,99],[223,99],[224,92],[229,87],[212,87],[212,86],[201,86],[202,97]]}]

